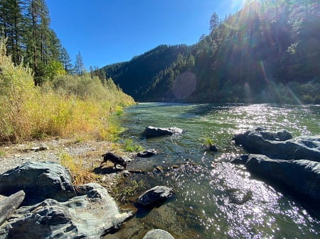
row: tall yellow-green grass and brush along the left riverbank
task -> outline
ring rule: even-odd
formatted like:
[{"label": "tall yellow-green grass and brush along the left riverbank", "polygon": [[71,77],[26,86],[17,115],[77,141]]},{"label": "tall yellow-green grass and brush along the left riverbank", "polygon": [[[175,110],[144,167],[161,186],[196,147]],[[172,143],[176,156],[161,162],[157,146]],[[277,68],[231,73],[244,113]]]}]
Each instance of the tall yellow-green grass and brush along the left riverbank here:
[{"label": "tall yellow-green grass and brush along the left riverbank", "polygon": [[[120,127],[113,112],[134,104],[111,79],[62,75],[34,87],[28,67],[14,65],[0,43],[0,141],[47,136],[114,140]],[[116,112],[117,113],[117,112]]]}]

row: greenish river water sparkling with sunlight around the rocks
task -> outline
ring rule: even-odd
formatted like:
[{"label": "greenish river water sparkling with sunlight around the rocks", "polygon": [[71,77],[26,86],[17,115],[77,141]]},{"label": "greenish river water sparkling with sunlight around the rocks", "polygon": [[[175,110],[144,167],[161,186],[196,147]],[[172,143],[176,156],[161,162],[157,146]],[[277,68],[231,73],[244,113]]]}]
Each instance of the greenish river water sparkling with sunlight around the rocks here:
[{"label": "greenish river water sparkling with sunlight around the rocks", "polygon": [[[128,168],[165,169],[128,180],[142,180],[145,189],[172,187],[176,195],[151,211],[139,209],[113,238],[140,239],[151,228],[168,230],[176,239],[320,238],[319,209],[228,162],[245,153],[233,135],[254,126],[286,129],[294,136],[320,134],[320,106],[145,103],[128,108],[122,126],[127,128],[123,138],[160,152]],[[185,133],[141,138],[146,126],[175,126]],[[205,138],[213,139],[218,153],[203,149]],[[171,168],[187,159],[196,165]]]}]

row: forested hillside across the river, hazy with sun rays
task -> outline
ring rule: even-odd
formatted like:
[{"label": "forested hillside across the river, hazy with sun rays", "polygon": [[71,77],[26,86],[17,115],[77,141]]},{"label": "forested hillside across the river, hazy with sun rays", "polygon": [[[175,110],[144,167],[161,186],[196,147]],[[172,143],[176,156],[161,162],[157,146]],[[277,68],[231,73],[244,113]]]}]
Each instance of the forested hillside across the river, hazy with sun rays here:
[{"label": "forested hillside across the river, hazy with sun rays", "polygon": [[247,1],[209,27],[196,45],[103,69],[138,101],[320,102],[318,0]]}]

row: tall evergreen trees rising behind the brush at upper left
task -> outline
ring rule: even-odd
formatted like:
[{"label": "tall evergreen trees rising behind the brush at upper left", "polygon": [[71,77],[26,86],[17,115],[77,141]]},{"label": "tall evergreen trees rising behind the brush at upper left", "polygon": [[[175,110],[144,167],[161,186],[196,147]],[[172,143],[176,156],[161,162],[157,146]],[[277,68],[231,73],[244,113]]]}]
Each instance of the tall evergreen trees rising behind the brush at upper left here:
[{"label": "tall evergreen trees rising behind the brush at upper left", "polygon": [[[68,52],[50,28],[45,0],[0,0],[0,36],[14,63],[28,65],[36,85],[55,74],[72,72]],[[62,71],[60,65],[63,65]]]}]

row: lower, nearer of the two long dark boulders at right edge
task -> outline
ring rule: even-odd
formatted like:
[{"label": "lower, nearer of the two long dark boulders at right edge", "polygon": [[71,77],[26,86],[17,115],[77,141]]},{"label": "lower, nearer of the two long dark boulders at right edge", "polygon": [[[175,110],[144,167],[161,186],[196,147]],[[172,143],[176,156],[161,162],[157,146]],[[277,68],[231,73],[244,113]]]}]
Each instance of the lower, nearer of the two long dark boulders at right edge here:
[{"label": "lower, nearer of the two long dark boulders at right edge", "polygon": [[242,155],[231,162],[244,164],[252,174],[308,198],[320,199],[320,162],[272,160],[265,155]]}]

